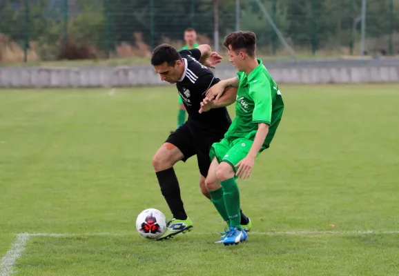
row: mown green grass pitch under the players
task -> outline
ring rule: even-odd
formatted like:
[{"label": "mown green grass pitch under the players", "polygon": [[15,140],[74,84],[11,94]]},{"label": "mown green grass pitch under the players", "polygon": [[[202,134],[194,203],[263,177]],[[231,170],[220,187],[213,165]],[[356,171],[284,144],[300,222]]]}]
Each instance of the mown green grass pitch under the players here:
[{"label": "mown green grass pitch under the players", "polygon": [[173,86],[0,90],[0,275],[398,275],[399,85],[280,88],[277,135],[239,181],[253,233],[228,247],[195,157],[175,168],[193,232],[135,230],[145,208],[171,218],[151,159]]}]

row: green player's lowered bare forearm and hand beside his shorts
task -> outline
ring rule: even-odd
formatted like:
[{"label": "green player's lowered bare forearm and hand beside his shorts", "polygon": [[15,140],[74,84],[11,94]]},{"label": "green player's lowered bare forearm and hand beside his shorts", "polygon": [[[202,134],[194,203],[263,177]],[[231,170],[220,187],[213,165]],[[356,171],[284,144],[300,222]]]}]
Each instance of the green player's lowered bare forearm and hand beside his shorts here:
[{"label": "green player's lowered bare forearm and hand beside his shorts", "polygon": [[249,150],[248,155],[242,161],[240,161],[236,167],[238,168],[235,175],[240,177],[241,179],[245,179],[250,177],[251,170],[253,168],[253,164],[255,164],[255,157],[257,153],[262,148],[262,144],[264,143],[264,139],[266,139],[267,133],[269,132],[269,125],[260,123],[257,124],[257,132],[255,135],[255,139],[253,140],[253,144],[251,146],[251,150]]}]

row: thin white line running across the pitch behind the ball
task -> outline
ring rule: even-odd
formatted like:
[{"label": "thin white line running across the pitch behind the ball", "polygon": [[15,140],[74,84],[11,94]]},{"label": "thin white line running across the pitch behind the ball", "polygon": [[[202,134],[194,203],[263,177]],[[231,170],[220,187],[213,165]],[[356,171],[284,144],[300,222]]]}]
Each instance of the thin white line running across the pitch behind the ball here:
[{"label": "thin white line running across the pitch behind the ball", "polygon": [[[194,235],[213,235],[216,232],[192,232]],[[271,232],[249,232],[249,235],[371,235],[371,234],[399,234],[399,230],[342,230],[342,231],[318,231],[318,230],[292,230],[292,231],[271,231]],[[79,237],[79,236],[130,236],[137,235],[132,233],[30,233],[30,236],[41,237]]]}]

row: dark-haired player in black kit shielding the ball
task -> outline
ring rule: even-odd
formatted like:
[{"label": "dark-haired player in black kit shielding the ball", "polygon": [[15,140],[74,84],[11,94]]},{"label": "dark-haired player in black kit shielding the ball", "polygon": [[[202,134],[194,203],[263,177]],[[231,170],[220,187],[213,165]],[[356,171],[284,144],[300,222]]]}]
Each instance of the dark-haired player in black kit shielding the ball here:
[{"label": "dark-haired player in black kit shielding the ball", "polygon": [[[222,97],[214,101],[218,108],[199,113],[200,103],[206,91],[220,81],[208,67],[214,68],[215,63],[219,63],[221,58],[217,53],[211,52],[211,47],[206,44],[179,52],[168,44],[162,44],[153,51],[151,64],[155,72],[160,75],[162,81],[176,83],[177,91],[188,112],[187,121],[166,139],[153,157],[153,167],[162,195],[173,214],[165,233],[157,240],[168,239],[193,228],[193,222],[184,210],[179,182],[173,170],[173,165],[177,161],[186,161],[197,155],[199,186],[202,193],[211,199],[205,186],[205,179],[211,166],[209,152],[213,143],[223,139],[231,124],[226,106],[235,102],[237,95],[237,88],[226,88]],[[219,196],[223,195],[215,195],[214,198]],[[251,220],[242,212],[241,224],[242,228],[251,229]]]}]

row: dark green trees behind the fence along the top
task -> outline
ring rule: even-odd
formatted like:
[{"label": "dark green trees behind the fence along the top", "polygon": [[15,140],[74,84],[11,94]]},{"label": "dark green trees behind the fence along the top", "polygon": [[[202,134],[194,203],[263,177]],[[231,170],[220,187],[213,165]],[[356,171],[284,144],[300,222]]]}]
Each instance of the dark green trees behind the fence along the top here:
[{"label": "dark green trees behind the fence along the top", "polygon": [[[66,10],[68,1],[68,10]],[[213,8],[216,0],[21,0],[0,1],[0,32],[23,44],[25,34],[37,41],[40,56],[53,59],[61,43],[73,39],[100,50],[121,42],[154,45],[167,37],[182,40],[191,26],[213,39]],[[295,49],[314,50],[349,46],[360,35],[361,0],[261,0],[280,32]],[[390,14],[393,1],[393,16]],[[235,30],[235,0],[218,0],[220,42]],[[26,9],[28,8],[28,23]],[[257,33],[260,48],[281,47],[255,0],[242,0],[240,26]],[[399,32],[399,2],[367,1],[367,37],[376,41]],[[65,19],[68,19],[66,23]],[[67,24],[67,26],[66,26]],[[385,39],[384,41],[387,41]],[[375,48],[388,48],[380,43]],[[151,45],[151,46],[154,46]],[[275,48],[274,47],[274,48]]]}]

